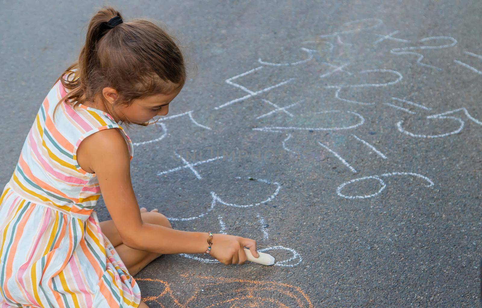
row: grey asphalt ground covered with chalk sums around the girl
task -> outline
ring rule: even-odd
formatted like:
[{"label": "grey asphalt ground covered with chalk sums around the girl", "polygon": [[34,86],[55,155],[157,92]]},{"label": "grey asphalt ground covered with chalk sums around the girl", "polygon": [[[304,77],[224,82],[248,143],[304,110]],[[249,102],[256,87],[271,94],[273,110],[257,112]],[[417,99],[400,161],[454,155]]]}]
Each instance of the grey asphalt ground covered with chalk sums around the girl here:
[{"label": "grey asphalt ground covered with chalk sums around the girl", "polygon": [[[139,2],[116,6],[197,66],[127,130],[139,205],[277,260],[161,256],[135,276],[149,307],[480,306],[480,1]],[[101,5],[3,2],[2,183]]]}]

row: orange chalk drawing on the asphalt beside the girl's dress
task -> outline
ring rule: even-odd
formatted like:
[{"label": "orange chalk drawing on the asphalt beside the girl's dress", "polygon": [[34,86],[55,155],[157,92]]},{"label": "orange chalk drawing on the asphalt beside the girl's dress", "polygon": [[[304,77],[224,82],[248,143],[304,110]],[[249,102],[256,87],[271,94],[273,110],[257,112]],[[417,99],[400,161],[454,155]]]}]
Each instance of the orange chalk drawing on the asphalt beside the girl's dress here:
[{"label": "orange chalk drawing on the asphalt beside the girl's dress", "polygon": [[[154,278],[136,278],[137,282],[154,283],[163,288],[159,295],[142,298],[147,305],[161,308],[313,308],[300,287],[272,281],[182,274],[195,288],[182,303],[168,282]],[[194,278],[194,279],[193,279]],[[206,304],[207,303],[207,304]],[[206,306],[207,305],[207,306]],[[156,307],[156,306],[149,306]]]}]

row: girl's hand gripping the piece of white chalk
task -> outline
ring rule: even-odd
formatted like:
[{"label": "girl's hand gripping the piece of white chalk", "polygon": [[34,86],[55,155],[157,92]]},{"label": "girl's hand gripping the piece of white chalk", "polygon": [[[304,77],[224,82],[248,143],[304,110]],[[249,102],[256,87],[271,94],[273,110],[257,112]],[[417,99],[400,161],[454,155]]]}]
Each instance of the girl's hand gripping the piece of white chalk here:
[{"label": "girl's hand gripping the piece of white chalk", "polygon": [[213,233],[213,244],[210,255],[219,262],[229,264],[243,264],[246,262],[244,247],[249,248],[254,257],[259,257],[256,251],[256,241],[241,236]]}]

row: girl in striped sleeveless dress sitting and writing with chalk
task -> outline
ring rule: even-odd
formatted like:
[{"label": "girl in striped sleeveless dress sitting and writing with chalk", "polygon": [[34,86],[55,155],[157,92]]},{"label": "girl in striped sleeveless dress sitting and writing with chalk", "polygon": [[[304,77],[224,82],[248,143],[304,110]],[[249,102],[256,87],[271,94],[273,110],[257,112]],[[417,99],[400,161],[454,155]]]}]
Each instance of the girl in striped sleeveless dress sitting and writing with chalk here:
[{"label": "girl in striped sleeveless dress sitting and writing with chalk", "polygon": [[[132,277],[161,254],[258,257],[252,239],[178,231],[139,210],[133,144],[118,124],[165,116],[184,86],[183,55],[159,26],[111,7],[89,23],[79,60],[40,105],[0,196],[0,307],[147,307]],[[117,128],[117,129],[108,129]],[[112,220],[94,211],[102,192]]]}]

